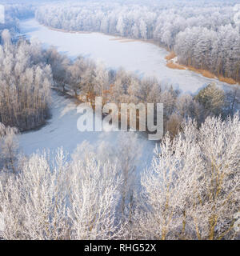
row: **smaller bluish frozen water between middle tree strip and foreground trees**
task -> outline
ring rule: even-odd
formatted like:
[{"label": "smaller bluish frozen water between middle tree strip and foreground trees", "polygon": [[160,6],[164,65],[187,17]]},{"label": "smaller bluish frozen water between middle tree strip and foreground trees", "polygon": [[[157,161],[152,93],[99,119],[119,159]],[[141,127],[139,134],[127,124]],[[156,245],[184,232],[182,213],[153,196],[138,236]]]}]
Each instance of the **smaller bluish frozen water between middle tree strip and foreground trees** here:
[{"label": "smaller bluish frozen water between middle tree strip and foreground trees", "polygon": [[[72,98],[52,94],[51,114],[52,118],[48,120],[46,126],[39,130],[23,133],[19,135],[20,149],[27,155],[51,150],[54,152],[62,147],[64,151],[73,154],[74,150],[84,141],[90,142],[91,146],[97,147],[101,142],[110,142],[112,146],[118,146],[119,134],[122,132],[102,131],[102,132],[81,132],[77,128],[78,118],[81,114],[77,113],[78,105]],[[106,127],[106,130],[108,127]],[[138,142],[144,148],[141,163],[138,170],[144,170],[153,157],[154,142],[148,141],[142,134],[138,135]],[[87,149],[86,149],[87,150]]]}]

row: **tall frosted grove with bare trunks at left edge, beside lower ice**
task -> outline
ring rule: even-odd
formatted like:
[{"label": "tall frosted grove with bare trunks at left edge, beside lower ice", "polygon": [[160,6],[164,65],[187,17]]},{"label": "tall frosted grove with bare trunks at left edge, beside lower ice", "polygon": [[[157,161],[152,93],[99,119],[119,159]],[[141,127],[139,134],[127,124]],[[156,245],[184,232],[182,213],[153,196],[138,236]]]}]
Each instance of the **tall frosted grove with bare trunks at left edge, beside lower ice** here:
[{"label": "tall frosted grove with bare trunks at left edge, beside lower ice", "polygon": [[41,126],[48,114],[51,68],[42,59],[41,46],[24,40],[11,43],[3,30],[0,46],[0,122],[30,130]]}]

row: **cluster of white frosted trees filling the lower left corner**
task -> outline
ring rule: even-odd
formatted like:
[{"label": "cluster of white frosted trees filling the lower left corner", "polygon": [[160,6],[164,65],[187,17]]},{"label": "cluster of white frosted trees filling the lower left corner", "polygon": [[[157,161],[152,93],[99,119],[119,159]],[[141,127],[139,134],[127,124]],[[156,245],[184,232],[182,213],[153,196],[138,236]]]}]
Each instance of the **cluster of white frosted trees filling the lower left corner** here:
[{"label": "cluster of white frosted trees filling the lower left corner", "polygon": [[121,176],[116,166],[95,158],[66,162],[34,154],[17,176],[0,181],[3,239],[59,240],[118,237]]}]

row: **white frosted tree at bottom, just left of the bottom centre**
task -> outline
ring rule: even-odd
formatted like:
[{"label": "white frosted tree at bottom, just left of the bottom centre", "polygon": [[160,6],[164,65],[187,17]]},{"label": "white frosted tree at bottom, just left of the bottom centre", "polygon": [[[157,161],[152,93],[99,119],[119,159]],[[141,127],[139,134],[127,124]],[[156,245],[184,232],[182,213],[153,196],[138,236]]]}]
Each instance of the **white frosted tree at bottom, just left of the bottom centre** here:
[{"label": "white frosted tree at bottom, just left of the bottom centre", "polygon": [[70,187],[70,238],[112,239],[121,230],[117,221],[121,176],[110,162],[86,158],[72,166]]}]

